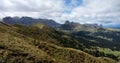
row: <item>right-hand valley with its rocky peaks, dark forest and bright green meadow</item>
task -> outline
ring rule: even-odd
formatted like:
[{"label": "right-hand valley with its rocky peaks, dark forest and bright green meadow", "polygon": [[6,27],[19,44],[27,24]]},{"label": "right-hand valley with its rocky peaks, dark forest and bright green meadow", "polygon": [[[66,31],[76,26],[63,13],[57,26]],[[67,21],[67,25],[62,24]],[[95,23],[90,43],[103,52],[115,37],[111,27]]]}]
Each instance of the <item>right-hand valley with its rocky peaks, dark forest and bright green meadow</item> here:
[{"label": "right-hand valley with its rocky peaks, dark forest and bright green meadow", "polygon": [[[69,28],[69,29],[68,29]],[[73,22],[66,22],[58,30],[71,34],[77,39],[87,41],[88,49],[83,51],[94,56],[106,56],[119,60],[120,58],[120,30],[103,28],[101,25],[81,25]],[[81,42],[82,42],[81,41]],[[90,47],[88,47],[90,46]],[[96,54],[97,53],[97,54]]]}]

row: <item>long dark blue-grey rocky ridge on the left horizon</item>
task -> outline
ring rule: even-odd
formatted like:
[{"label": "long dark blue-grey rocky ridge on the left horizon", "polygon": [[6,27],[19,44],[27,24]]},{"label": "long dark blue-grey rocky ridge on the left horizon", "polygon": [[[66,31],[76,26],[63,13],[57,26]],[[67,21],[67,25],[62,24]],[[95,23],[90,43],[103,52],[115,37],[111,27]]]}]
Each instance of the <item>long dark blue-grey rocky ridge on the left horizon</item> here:
[{"label": "long dark blue-grey rocky ridge on the left horizon", "polygon": [[50,19],[35,19],[31,17],[5,17],[3,21],[7,24],[21,24],[25,26],[33,25],[36,23],[43,23],[51,27],[58,27],[60,24]]}]

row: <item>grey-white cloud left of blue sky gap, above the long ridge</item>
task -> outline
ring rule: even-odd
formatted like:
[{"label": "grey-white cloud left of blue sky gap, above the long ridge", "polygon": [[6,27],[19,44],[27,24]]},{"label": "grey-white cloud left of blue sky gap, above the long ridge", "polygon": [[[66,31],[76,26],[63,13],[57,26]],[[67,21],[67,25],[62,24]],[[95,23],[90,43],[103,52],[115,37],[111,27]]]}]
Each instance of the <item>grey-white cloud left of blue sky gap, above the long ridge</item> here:
[{"label": "grey-white cloud left of blue sky gap, above the long ridge", "polygon": [[56,19],[64,11],[63,0],[1,0],[0,17],[30,16]]}]

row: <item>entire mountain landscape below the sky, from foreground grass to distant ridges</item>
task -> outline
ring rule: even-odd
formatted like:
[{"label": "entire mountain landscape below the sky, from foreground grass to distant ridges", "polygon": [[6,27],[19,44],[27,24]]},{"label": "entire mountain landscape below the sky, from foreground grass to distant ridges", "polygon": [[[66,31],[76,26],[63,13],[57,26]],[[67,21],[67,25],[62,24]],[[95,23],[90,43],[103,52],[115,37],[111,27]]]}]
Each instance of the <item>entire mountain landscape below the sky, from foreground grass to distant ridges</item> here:
[{"label": "entire mountain landscape below the sky, from foreground grass to distant ridges", "polygon": [[51,19],[4,17],[0,63],[119,63],[120,29]]}]

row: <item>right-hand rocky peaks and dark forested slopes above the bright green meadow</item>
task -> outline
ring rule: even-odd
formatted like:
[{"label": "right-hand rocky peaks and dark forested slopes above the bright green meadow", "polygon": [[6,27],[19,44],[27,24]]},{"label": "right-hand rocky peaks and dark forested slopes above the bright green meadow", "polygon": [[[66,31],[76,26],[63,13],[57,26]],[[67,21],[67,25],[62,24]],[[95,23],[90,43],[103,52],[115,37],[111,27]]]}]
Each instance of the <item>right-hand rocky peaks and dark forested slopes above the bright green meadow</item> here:
[{"label": "right-hand rocky peaks and dark forested slopes above the bright green meadow", "polygon": [[119,29],[103,28],[102,25],[97,24],[79,24],[66,21],[58,30],[77,36],[80,39],[84,38],[85,40],[98,43],[96,45],[99,47],[120,50]]}]

